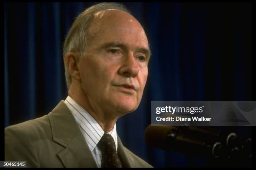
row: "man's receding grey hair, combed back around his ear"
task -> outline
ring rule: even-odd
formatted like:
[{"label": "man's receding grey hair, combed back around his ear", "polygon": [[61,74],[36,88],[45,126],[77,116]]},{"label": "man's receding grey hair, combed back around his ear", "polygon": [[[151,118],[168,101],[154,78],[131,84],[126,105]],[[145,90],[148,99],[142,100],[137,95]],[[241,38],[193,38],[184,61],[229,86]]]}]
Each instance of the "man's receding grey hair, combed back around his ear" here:
[{"label": "man's receding grey hair, combed back around his ear", "polygon": [[67,37],[64,41],[63,45],[63,60],[65,67],[65,76],[67,82],[67,88],[69,89],[71,85],[71,76],[67,71],[67,66],[65,62],[65,58],[68,52],[78,52],[80,59],[84,57],[85,50],[88,43],[88,35],[87,30],[92,22],[92,19],[98,11],[108,10],[108,9],[116,9],[122,10],[126,13],[130,13],[130,11],[122,4],[115,2],[103,2],[97,5],[93,5],[82,13],[80,13],[77,18],[74,20],[72,27],[70,28]]}]

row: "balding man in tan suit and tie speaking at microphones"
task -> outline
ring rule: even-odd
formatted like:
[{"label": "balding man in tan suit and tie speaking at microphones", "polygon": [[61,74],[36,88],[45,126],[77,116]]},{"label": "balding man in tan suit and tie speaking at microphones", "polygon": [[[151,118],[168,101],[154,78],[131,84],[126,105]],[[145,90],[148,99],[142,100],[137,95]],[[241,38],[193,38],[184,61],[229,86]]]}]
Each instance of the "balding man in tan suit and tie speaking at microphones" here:
[{"label": "balding man in tan suit and tie speaking at microphones", "polygon": [[27,161],[27,167],[152,167],[122,145],[115,125],[138,107],[150,55],[142,26],[123,5],[85,10],[63,47],[69,96],[48,115],[5,128],[5,161]]}]

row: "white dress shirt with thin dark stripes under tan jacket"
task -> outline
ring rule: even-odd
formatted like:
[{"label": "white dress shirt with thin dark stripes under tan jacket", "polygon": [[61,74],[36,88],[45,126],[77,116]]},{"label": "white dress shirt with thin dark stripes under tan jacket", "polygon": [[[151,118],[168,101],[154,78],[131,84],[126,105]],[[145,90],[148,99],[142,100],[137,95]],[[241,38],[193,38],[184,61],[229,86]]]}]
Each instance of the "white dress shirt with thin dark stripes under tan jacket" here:
[{"label": "white dress shirt with thin dark stripes under tan jacket", "polygon": [[[66,98],[64,101],[72,112],[77,125],[79,126],[84,139],[89,146],[92,156],[97,163],[97,166],[101,167],[101,151],[97,147],[97,143],[100,141],[101,137],[104,134],[104,131],[100,127],[100,125],[96,122],[96,120],[86,111],[84,110],[77,102],[75,102],[70,96]],[[116,133],[116,124],[110,132],[110,134],[115,141],[115,148],[117,149],[117,133]]]}]

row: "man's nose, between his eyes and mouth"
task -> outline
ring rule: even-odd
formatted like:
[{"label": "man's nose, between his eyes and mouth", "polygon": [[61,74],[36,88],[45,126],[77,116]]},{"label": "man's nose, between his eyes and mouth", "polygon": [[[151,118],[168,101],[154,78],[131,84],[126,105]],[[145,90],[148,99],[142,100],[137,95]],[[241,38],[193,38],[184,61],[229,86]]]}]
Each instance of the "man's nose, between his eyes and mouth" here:
[{"label": "man's nose, between his eyes and mouth", "polygon": [[125,77],[136,77],[138,75],[139,67],[133,54],[128,54],[122,62],[118,71],[120,75]]}]

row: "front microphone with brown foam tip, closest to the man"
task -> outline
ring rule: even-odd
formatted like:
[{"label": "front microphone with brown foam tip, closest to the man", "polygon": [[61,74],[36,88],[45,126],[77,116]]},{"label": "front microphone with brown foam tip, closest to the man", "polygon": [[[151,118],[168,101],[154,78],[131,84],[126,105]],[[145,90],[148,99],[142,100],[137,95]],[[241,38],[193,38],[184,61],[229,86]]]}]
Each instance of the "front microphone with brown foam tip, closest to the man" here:
[{"label": "front microphone with brown foam tip, closest to the man", "polygon": [[178,128],[174,126],[149,125],[146,128],[144,138],[149,146],[187,155],[218,156],[222,148],[221,143],[216,142],[211,145],[205,140],[180,133]]}]

